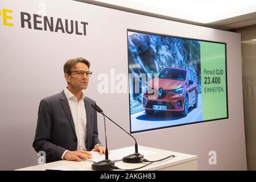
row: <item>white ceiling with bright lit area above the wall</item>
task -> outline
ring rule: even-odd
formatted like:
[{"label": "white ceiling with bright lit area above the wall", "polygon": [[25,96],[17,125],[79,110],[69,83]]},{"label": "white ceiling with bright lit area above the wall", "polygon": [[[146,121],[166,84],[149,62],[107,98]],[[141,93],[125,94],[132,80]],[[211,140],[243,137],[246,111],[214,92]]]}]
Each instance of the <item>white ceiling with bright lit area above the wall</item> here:
[{"label": "white ceiling with bright lit area above the wall", "polygon": [[230,30],[256,24],[255,0],[74,1],[220,30]]}]

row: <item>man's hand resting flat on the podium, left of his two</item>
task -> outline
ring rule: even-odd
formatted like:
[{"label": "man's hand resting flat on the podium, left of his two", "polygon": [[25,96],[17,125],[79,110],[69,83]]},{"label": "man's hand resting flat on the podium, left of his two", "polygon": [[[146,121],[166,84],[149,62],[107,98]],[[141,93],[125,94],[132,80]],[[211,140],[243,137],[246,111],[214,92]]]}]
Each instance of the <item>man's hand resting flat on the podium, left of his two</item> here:
[{"label": "man's hand resting flat on the podium, left of his two", "polygon": [[64,157],[65,160],[75,160],[81,162],[82,159],[90,159],[92,158],[92,154],[87,151],[78,150],[78,151],[68,151]]}]

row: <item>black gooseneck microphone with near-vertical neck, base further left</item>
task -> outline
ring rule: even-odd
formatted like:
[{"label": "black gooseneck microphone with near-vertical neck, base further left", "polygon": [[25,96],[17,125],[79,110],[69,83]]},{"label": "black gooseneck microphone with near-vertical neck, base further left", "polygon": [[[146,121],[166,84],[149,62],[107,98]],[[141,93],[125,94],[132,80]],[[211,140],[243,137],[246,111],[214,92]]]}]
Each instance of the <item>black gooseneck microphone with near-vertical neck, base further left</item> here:
[{"label": "black gooseneck microphone with near-vertical neck, base further left", "polygon": [[[96,106],[93,104],[91,105],[96,111],[99,113],[102,112],[102,110],[98,109]],[[109,171],[112,170],[112,166],[114,166],[114,162],[112,160],[109,160],[109,150],[108,150],[108,142],[106,138],[106,119],[105,115],[104,117],[104,128],[105,128],[105,142],[106,142],[106,150],[105,150],[105,160],[101,160],[100,162],[92,164],[92,169],[96,171]]]}]

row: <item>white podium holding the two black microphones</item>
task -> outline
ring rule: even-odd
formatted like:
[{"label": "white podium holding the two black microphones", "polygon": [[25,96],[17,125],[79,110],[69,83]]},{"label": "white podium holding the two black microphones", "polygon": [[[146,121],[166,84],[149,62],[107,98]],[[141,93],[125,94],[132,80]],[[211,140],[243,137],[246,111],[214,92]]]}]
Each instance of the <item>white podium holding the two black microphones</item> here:
[{"label": "white podium holding the two black microphones", "polygon": [[[139,171],[142,170],[197,170],[197,156],[196,155],[189,155],[183,154],[179,152],[161,150],[157,148],[151,147],[143,147],[139,146],[139,153],[144,155],[144,159],[147,160],[159,160],[166,158],[170,155],[175,155],[175,158],[168,158],[162,160],[160,162],[152,163],[146,167],[138,169]],[[117,150],[110,151],[110,154],[126,156],[129,154],[134,153],[134,146],[120,148]],[[57,162],[40,164],[37,166],[31,166],[26,168],[16,169],[16,171],[44,171],[46,169],[60,169],[60,170],[75,170],[75,171],[91,171],[92,170],[93,162],[89,162],[87,160],[82,162],[75,162],[75,161],[68,161],[68,160],[59,160]],[[115,162],[115,166],[121,169],[132,169],[142,167],[148,163],[138,163],[138,164],[131,164],[131,163],[123,163],[122,161]]]}]

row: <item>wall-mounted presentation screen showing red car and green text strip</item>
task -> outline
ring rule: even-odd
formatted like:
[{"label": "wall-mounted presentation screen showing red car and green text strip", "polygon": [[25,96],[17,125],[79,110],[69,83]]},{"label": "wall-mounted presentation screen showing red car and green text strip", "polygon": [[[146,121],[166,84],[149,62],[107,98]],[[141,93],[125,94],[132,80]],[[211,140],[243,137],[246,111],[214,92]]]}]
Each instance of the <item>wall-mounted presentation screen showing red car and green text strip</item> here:
[{"label": "wall-mounted presentation screen showing red car and green text strip", "polygon": [[226,44],[127,30],[130,132],[228,118]]}]

